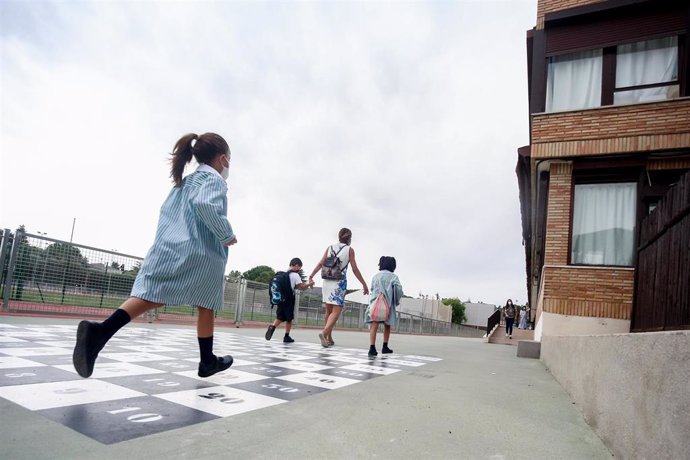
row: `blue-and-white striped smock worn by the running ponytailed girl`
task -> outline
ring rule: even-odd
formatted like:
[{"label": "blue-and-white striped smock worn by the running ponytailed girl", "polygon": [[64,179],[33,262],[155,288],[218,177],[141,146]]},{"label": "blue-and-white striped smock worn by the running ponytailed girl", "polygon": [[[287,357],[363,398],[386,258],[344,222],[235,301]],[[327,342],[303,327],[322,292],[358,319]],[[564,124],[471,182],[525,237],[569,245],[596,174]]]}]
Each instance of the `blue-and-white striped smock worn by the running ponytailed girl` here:
[{"label": "blue-and-white striped smock worn by the running ponytailed girl", "polygon": [[174,187],[161,207],[153,246],[132,287],[132,297],[166,305],[223,308],[228,186],[202,164]]}]

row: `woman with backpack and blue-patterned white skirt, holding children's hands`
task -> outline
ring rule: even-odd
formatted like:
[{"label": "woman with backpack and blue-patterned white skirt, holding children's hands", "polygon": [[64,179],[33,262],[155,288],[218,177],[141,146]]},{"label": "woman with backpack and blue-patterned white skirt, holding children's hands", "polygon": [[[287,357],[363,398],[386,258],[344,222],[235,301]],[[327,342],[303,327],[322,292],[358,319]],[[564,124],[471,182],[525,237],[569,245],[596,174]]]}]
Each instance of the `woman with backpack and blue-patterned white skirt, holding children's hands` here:
[{"label": "woman with backpack and blue-patterned white skirt, holding children's hands", "polygon": [[314,275],[321,270],[321,278],[323,279],[322,296],[326,304],[326,318],[325,327],[319,333],[319,340],[321,341],[321,346],[325,348],[335,345],[333,329],[343,310],[343,305],[345,305],[348,265],[352,264],[352,273],[362,283],[364,295],[369,294],[367,283],[359,272],[359,268],[357,268],[355,250],[350,246],[351,242],[352,231],[348,228],[341,228],[338,232],[338,243],[326,248],[323,257],[321,257],[321,260],[316,264],[311,275],[309,275],[309,282],[313,283]]}]

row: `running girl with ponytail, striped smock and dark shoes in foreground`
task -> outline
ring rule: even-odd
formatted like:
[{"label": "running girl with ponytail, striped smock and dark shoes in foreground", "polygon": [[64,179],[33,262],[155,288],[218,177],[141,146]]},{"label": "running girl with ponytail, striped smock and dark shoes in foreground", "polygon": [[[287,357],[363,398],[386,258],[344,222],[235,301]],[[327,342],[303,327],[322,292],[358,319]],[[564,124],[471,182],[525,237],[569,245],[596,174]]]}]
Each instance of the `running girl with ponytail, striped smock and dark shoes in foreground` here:
[{"label": "running girl with ponytail, striped smock and dark shoes in foreground", "polygon": [[[183,179],[192,158],[199,167]],[[161,207],[156,238],[130,298],[102,323],[79,323],[72,362],[80,376],[91,376],[98,353],[120,328],[162,305],[197,307],[199,377],[232,365],[232,356],[213,354],[214,312],[223,308],[228,246],[237,243],[227,219],[229,167],[230,147],[218,134],[187,134],[177,141],[170,171],[175,185]]]}]

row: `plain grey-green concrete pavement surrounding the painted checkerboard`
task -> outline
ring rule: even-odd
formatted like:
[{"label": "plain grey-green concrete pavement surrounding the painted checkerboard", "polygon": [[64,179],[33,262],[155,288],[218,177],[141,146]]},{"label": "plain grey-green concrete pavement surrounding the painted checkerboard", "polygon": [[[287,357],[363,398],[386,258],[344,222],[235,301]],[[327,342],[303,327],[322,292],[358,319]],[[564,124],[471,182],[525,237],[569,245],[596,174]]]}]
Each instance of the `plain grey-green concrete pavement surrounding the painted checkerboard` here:
[{"label": "plain grey-green concrete pavement surrounding the painted checkerboard", "polygon": [[[76,320],[0,316],[0,322]],[[256,337],[265,332],[228,331]],[[317,332],[293,329],[292,336],[318,343]],[[281,334],[282,327],[276,337]],[[336,331],[334,340],[336,347],[368,346],[364,332]],[[379,348],[380,340],[379,335]],[[390,346],[396,354],[443,361],[112,445],[0,399],[0,458],[611,458],[544,365],[517,358],[515,347],[481,339],[395,334]]]}]

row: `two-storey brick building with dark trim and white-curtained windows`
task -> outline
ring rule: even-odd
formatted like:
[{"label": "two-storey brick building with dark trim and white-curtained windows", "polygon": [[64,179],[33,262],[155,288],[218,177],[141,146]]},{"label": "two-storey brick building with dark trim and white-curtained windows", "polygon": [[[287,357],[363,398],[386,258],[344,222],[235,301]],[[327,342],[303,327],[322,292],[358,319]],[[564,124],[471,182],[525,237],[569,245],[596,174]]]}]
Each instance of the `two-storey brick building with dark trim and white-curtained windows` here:
[{"label": "two-storey brick building with dark trim and white-curtained windows", "polygon": [[542,335],[630,331],[637,228],[690,169],[690,0],[538,0],[518,149]]}]

